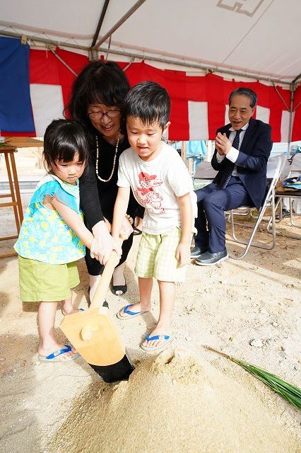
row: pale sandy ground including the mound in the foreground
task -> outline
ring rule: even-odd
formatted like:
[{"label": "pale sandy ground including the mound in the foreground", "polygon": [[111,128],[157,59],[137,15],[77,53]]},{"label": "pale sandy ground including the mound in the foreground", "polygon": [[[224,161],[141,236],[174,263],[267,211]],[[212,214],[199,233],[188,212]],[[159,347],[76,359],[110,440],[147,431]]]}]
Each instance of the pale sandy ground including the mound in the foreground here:
[{"label": "pale sandy ground including the mound in the foreground", "polygon": [[[287,219],[281,228],[297,233]],[[4,230],[13,233],[9,210],[1,212],[1,235]],[[113,313],[138,297],[138,241],[126,268],[129,291],[107,294]],[[2,241],[0,251],[12,242]],[[168,352],[149,362],[139,343],[158,319],[154,285],[150,314],[116,319],[136,370],[129,383],[113,385],[81,358],[37,361],[36,307],[20,302],[17,258],[0,260],[0,452],[301,452],[300,411],[203,348],[211,345],[301,386],[300,245],[278,236],[273,251],[252,248],[244,260],[189,265],[187,282],[177,286],[175,357]],[[228,241],[228,250],[240,246]],[[74,304],[85,307],[83,260],[79,268]],[[57,326],[60,319],[58,311]],[[64,340],[59,327],[57,335]]]}]

